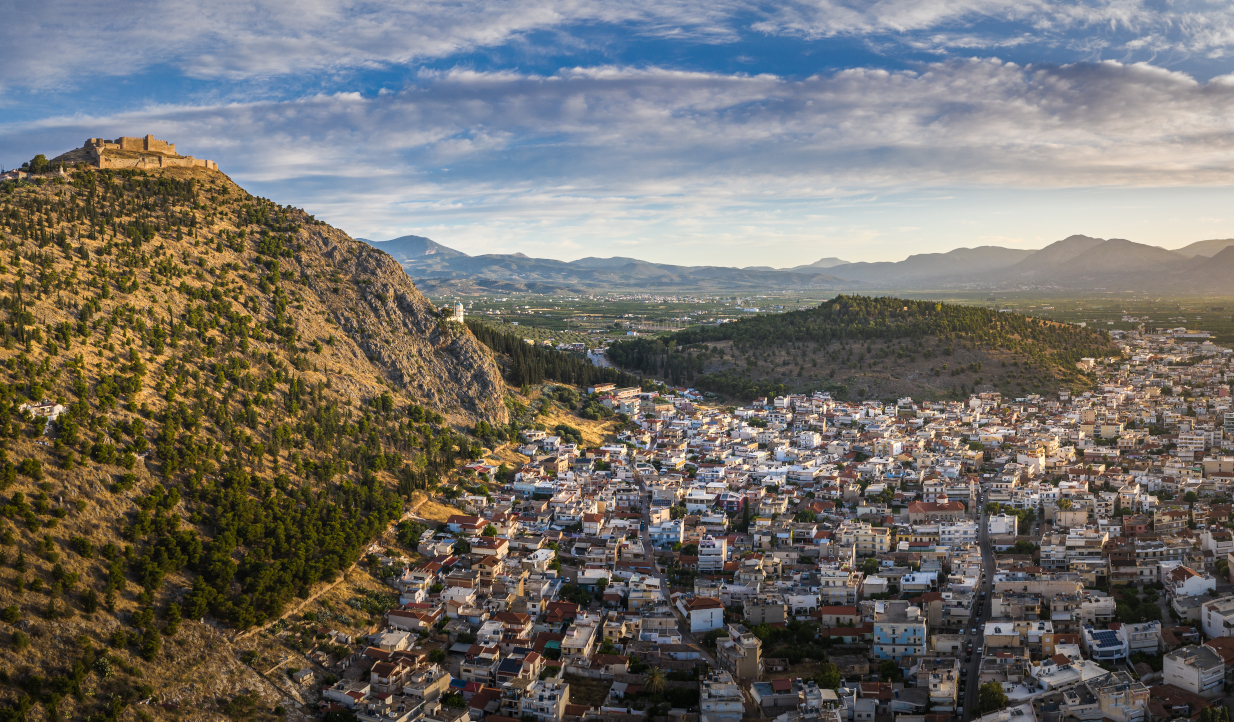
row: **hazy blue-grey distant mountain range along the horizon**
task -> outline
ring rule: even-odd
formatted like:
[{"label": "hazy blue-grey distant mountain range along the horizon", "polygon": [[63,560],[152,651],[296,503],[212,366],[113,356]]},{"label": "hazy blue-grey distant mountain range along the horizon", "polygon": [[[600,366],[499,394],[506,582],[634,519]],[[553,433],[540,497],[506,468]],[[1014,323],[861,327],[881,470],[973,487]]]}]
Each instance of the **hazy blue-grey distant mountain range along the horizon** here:
[{"label": "hazy blue-grey distant mountain range along the horizon", "polygon": [[1038,251],[979,246],[897,262],[823,258],[793,268],[673,265],[622,257],[468,255],[423,236],[359,241],[389,253],[428,293],[1041,289],[1234,294],[1234,238],[1167,251],[1122,238],[1071,236]]}]

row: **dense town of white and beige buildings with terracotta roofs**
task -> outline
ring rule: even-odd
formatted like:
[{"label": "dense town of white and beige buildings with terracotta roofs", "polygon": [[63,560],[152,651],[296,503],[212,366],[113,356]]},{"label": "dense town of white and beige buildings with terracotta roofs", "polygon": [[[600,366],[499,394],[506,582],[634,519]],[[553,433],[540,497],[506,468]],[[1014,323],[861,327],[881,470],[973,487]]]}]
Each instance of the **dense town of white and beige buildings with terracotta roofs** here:
[{"label": "dense town of white and beige buildings with terracotta roofs", "polygon": [[[1053,399],[591,388],[628,429],[527,431],[500,483],[468,467],[490,484],[449,490],[465,516],[424,532],[370,674],[326,696],[371,720],[555,722],[633,710],[648,665],[706,665],[703,720],[972,717],[987,683],[1011,705],[985,722],[1196,717],[1234,676],[1234,370],[1186,334],[1119,342],[1083,362],[1093,391]],[[789,626],[830,648],[840,689],[777,674],[764,641]],[[608,697],[571,701],[571,675]]]}]

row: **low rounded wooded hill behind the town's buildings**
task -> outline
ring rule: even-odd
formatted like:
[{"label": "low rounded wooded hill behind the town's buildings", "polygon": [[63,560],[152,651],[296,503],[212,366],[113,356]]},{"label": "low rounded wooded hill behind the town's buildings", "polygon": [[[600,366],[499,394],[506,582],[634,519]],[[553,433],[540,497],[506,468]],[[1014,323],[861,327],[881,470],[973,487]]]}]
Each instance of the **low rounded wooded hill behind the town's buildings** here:
[{"label": "low rounded wooded hill behind the town's buildings", "polygon": [[868,296],[619,341],[608,349],[610,360],[627,370],[743,400],[810,390],[853,399],[1055,392],[1087,388],[1075,365],[1081,358],[1117,354],[1101,331]]}]

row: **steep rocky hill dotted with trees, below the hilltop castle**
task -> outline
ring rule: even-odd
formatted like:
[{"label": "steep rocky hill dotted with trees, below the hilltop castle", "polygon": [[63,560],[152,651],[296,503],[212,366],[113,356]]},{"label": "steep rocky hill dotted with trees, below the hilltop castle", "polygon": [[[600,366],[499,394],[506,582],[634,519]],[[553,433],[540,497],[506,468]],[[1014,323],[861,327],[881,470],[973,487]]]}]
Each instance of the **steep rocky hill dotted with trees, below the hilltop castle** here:
[{"label": "steep rocky hill dotted with trees, below the hilltop castle", "polygon": [[491,352],[215,170],[2,183],[0,247],[0,720],[300,716],[300,604],[384,608],[348,570],[507,422]]}]

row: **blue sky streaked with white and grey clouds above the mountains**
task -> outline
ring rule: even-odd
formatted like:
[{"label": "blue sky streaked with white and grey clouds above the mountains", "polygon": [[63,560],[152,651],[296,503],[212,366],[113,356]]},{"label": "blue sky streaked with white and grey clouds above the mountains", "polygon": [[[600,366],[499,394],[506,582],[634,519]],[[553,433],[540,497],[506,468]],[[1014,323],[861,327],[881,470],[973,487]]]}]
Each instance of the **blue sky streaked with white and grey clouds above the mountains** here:
[{"label": "blue sky streaked with white and grey clouds above the mountains", "polygon": [[10,4],[0,163],[153,133],[354,236],[686,264],[1234,236],[1198,0]]}]

